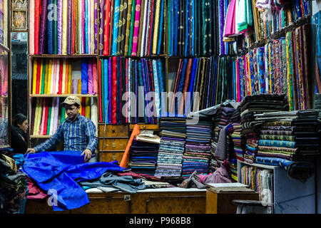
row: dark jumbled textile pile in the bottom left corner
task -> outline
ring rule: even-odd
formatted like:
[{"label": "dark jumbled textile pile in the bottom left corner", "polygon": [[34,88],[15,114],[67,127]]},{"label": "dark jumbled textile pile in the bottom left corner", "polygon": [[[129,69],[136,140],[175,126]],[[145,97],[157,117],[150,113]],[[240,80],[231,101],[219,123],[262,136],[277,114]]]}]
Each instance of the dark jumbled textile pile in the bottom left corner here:
[{"label": "dark jumbled textile pile in the bottom left corner", "polygon": [[24,214],[26,195],[26,174],[17,170],[14,159],[0,153],[0,214]]}]

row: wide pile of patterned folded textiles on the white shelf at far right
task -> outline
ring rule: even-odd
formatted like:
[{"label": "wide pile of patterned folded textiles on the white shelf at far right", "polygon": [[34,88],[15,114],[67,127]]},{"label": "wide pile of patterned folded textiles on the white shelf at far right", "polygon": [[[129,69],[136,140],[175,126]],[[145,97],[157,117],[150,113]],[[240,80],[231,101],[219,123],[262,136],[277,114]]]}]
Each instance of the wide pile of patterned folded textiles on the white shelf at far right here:
[{"label": "wide pile of patterned folded textiles on the white shelf at far right", "polygon": [[258,156],[313,161],[320,154],[317,110],[297,110],[255,115],[264,121]]}]

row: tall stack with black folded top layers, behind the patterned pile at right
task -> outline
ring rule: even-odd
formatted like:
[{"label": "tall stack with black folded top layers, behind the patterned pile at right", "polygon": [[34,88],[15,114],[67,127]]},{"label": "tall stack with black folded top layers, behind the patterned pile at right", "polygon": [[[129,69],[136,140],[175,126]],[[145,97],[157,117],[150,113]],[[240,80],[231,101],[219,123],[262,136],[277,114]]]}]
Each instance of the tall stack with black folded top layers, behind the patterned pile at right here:
[{"label": "tall stack with black folded top layers, behind the patterned pile at right", "polygon": [[255,114],[289,110],[285,94],[255,94],[246,96],[240,103],[242,135],[246,140],[243,148],[245,162],[253,163],[258,150],[262,120]]}]

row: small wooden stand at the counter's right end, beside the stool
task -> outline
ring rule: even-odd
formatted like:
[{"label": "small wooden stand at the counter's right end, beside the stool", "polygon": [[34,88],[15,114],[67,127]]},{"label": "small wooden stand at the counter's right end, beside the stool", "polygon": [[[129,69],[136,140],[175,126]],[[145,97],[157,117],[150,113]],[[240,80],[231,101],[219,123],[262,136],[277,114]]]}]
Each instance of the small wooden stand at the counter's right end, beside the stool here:
[{"label": "small wooden stand at the counter's right end, beside the stool", "polygon": [[258,200],[258,192],[220,192],[206,191],[206,214],[235,214],[238,206],[233,199]]}]

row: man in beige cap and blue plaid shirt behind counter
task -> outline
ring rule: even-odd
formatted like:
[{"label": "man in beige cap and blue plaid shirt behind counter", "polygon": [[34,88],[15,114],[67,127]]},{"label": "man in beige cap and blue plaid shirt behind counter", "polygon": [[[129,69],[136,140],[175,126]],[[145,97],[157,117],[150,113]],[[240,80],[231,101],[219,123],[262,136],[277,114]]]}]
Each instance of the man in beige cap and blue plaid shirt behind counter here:
[{"label": "man in beige cap and blue plaid shirt behind counter", "polygon": [[45,142],[34,148],[28,148],[26,153],[50,151],[63,140],[63,150],[82,151],[84,161],[88,162],[95,155],[98,140],[96,126],[79,113],[81,101],[75,95],[70,95],[61,103],[66,108],[67,118],[61,123],[56,133]]}]

